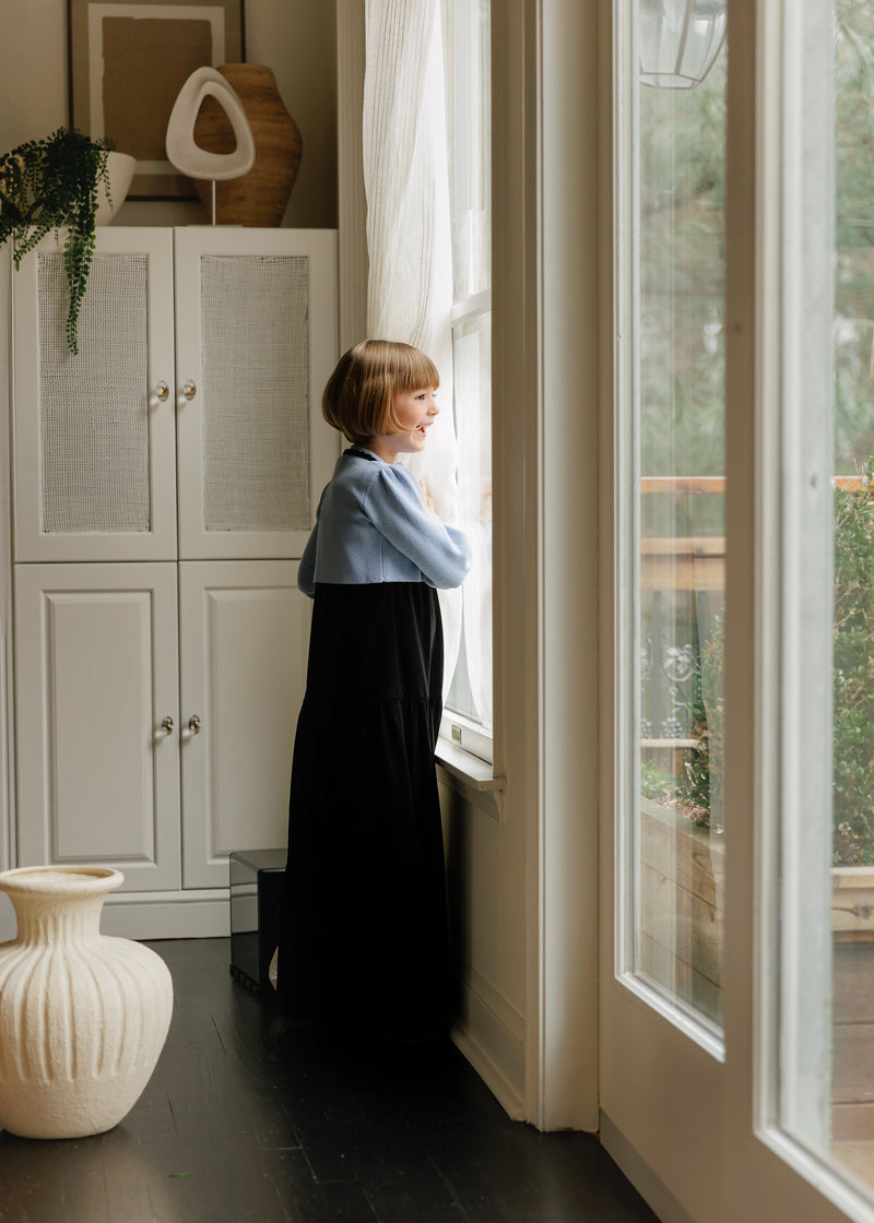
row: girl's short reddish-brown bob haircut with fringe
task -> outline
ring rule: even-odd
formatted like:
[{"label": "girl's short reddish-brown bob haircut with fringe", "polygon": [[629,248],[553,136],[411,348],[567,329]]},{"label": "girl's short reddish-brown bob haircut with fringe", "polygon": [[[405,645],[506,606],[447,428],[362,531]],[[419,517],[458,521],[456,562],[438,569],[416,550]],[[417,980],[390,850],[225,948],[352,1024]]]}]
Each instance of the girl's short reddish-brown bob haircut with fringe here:
[{"label": "girl's short reddish-brown bob haircut with fringe", "polygon": [[377,434],[404,432],[394,415],[397,395],[437,386],[437,367],[419,349],[394,340],[362,340],[337,362],[322,396],[322,415],[361,446]]}]

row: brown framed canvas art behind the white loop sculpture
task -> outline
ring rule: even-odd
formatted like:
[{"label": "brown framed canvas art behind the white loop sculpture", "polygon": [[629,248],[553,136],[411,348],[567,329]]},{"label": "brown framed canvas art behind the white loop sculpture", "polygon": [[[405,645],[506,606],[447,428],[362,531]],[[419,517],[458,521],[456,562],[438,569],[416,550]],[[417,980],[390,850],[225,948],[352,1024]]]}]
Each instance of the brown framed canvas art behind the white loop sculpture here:
[{"label": "brown framed canvas art behind the white loop sculpture", "polygon": [[193,198],[166,160],[173,104],[195,68],[244,59],[242,0],[69,0],[70,121],[137,159],[130,198]]}]

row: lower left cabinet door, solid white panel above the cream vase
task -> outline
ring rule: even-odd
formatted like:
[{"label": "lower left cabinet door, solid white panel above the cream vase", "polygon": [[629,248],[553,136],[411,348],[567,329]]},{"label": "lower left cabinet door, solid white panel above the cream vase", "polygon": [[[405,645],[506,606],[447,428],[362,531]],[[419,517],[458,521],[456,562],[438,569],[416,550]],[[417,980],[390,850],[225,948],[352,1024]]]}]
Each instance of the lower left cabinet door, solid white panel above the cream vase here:
[{"label": "lower left cabinet door, solid white panel above the cream vase", "polygon": [[179,887],[176,565],[16,565],[15,596],[20,865]]}]

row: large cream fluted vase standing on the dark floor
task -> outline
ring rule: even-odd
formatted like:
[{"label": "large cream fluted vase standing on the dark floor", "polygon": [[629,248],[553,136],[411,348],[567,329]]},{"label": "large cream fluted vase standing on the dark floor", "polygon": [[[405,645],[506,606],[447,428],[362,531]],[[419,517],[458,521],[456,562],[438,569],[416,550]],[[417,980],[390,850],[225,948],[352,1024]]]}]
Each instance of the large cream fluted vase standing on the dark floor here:
[{"label": "large cream fluted vase standing on the dark floor", "polygon": [[0,944],[0,1126],[28,1139],[102,1134],[138,1099],[166,1040],[164,961],[100,934],[124,876],[99,867],[0,873],[18,934]]}]

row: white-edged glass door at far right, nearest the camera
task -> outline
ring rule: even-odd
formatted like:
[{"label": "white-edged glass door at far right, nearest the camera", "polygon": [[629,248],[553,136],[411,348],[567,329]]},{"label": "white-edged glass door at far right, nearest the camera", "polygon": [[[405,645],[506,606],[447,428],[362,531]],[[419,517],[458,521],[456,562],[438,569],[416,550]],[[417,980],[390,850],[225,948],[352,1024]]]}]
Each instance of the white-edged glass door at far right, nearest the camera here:
[{"label": "white-edged glass door at far right, nearest the camera", "polygon": [[[758,1129],[819,1218],[874,1219],[874,13],[787,13],[781,308],[763,362]],[[774,223],[777,223],[775,215]],[[809,1188],[808,1188],[809,1186]]]}]

